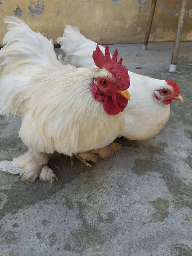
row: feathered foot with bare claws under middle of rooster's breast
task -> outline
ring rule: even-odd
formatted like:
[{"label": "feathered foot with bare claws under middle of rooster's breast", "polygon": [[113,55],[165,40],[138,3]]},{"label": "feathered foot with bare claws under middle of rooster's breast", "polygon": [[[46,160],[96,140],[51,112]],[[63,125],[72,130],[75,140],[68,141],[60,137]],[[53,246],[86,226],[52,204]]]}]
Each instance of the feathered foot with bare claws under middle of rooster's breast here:
[{"label": "feathered foot with bare claws under middle of rooster's breast", "polygon": [[74,159],[78,159],[81,163],[83,163],[85,166],[92,167],[90,163],[87,163],[87,161],[91,161],[92,163],[97,163],[99,161],[99,157],[97,154],[91,153],[91,152],[83,152],[79,153],[77,155],[70,156],[71,161],[71,167],[74,166]]}]

